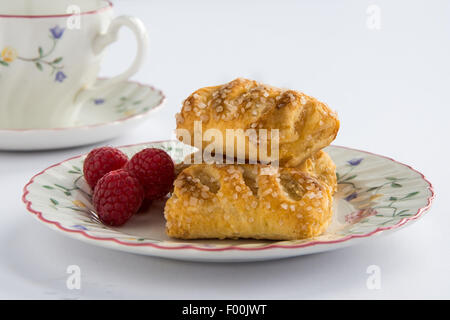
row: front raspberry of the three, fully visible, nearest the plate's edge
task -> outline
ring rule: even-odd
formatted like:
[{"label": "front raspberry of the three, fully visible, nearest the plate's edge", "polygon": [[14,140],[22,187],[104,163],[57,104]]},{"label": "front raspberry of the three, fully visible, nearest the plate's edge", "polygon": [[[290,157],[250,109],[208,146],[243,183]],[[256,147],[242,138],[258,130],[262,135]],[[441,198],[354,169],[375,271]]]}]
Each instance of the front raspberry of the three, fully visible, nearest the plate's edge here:
[{"label": "front raspberry of the three, fully visible, nearest the plate's edge", "polygon": [[94,189],[92,202],[98,217],[110,226],[120,226],[135,214],[144,199],[139,181],[123,169],[111,171]]}]

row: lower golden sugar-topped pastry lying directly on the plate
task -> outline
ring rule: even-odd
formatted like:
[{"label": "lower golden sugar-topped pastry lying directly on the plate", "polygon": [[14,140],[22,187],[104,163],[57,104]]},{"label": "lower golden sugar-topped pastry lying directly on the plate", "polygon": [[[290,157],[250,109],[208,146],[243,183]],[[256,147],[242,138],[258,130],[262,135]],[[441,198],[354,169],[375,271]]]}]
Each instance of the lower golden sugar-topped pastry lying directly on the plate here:
[{"label": "lower golden sugar-topped pastry lying directly on the plate", "polygon": [[194,164],[174,185],[164,210],[174,238],[303,239],[332,216],[331,188],[298,168]]}]

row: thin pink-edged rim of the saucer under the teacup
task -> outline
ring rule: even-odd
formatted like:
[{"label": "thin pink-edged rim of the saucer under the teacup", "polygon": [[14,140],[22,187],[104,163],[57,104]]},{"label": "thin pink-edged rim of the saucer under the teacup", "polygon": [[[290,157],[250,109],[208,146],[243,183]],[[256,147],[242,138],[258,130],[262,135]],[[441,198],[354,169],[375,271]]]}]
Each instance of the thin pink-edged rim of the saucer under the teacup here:
[{"label": "thin pink-edged rim of the saucer under the teacup", "polygon": [[[98,77],[97,80],[108,80],[110,79],[109,77]],[[86,124],[86,125],[78,125],[78,126],[72,126],[72,127],[56,127],[56,128],[24,128],[24,129],[1,129],[0,128],[0,134],[1,133],[33,133],[33,132],[53,132],[53,131],[75,131],[75,130],[84,130],[84,129],[91,129],[91,128],[97,128],[97,127],[106,127],[106,126],[114,126],[116,124],[122,123],[122,122],[126,122],[132,119],[139,119],[142,117],[145,117],[146,115],[159,110],[164,103],[166,102],[167,97],[165,96],[164,92],[161,89],[158,89],[152,85],[149,84],[144,84],[140,81],[135,81],[135,80],[124,80],[121,81],[123,83],[134,83],[136,85],[138,85],[139,87],[147,87],[150,90],[158,93],[161,96],[161,99],[158,101],[158,103],[151,109],[145,111],[145,112],[141,112],[141,113],[137,113],[137,114],[133,114],[130,116],[126,116],[124,118],[120,118],[114,121],[109,121],[109,122],[100,122],[100,123],[94,123],[94,124]],[[121,83],[119,82],[119,83]],[[83,155],[81,155],[83,156]],[[68,161],[70,159],[67,159],[66,161]],[[62,161],[64,162],[64,161]],[[50,169],[50,168],[47,168]]]}]

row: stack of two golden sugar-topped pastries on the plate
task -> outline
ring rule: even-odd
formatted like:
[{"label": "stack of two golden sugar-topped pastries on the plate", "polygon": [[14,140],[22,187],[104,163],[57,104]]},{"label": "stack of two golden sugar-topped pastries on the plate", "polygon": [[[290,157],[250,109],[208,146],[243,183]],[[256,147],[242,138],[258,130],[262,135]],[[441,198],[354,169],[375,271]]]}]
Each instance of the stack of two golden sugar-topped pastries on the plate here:
[{"label": "stack of two golden sugar-topped pastries on the plate", "polygon": [[[339,120],[324,103],[297,91],[236,79],[197,90],[176,119],[177,129],[193,137],[209,129],[222,133],[215,136],[224,140],[215,145],[214,159],[240,157],[232,164],[185,161],[178,166],[165,207],[169,236],[291,240],[325,231],[336,172],[322,149],[335,139]],[[234,129],[234,149],[225,141],[227,129]],[[269,134],[261,137],[260,129]],[[199,140],[184,142],[194,141]],[[209,148],[208,141],[201,140],[200,152]],[[262,143],[272,152],[261,152]]]}]

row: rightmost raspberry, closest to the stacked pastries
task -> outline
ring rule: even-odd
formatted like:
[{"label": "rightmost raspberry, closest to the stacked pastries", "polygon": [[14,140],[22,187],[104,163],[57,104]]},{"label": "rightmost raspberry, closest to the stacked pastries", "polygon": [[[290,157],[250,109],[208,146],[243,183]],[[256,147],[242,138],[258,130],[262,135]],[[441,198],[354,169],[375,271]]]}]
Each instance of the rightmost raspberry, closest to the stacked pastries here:
[{"label": "rightmost raspberry, closest to the stacked pastries", "polygon": [[148,200],[159,199],[169,193],[175,178],[172,158],[155,148],[136,153],[125,165],[125,170],[139,180]]}]

